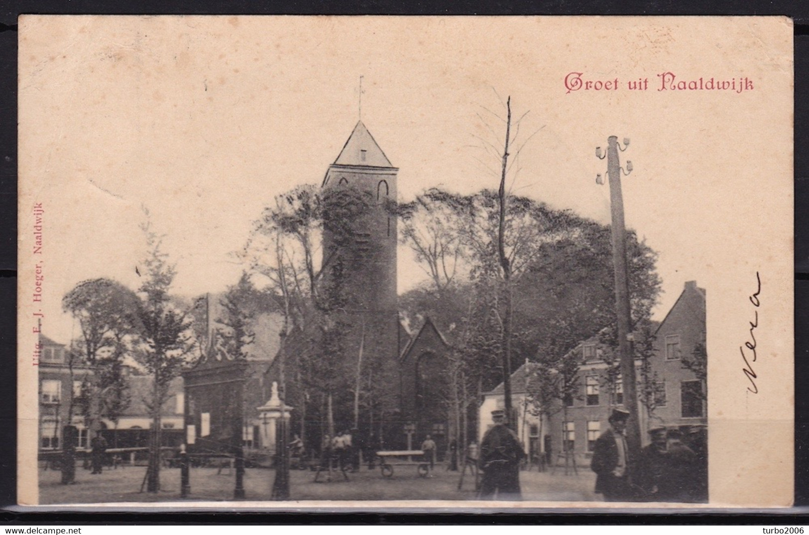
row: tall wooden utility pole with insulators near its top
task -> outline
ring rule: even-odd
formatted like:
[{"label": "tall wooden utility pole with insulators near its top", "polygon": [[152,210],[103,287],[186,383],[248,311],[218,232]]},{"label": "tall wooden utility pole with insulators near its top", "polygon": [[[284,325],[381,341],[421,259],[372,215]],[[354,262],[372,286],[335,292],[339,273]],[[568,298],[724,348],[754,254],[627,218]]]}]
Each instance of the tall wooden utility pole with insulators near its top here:
[{"label": "tall wooden utility pole with insulators near its top", "polygon": [[[626,260],[626,230],[624,223],[624,197],[621,193],[621,173],[632,172],[632,162],[626,162],[626,170],[621,168],[618,158],[619,150],[623,152],[629,146],[629,139],[624,138],[624,148],[618,144],[618,137],[607,139],[607,175],[609,179],[610,209],[612,212],[612,263],[615,271],[615,305],[618,319],[618,351],[621,355],[621,379],[624,387],[624,408],[629,411],[629,422],[626,427],[626,440],[630,451],[640,452],[641,426],[637,411],[637,388],[635,381],[635,355],[632,336],[632,312],[629,307],[629,273]],[[601,147],[595,149],[595,155],[604,159]],[[604,179],[597,175],[596,183],[603,184]],[[633,463],[637,459],[629,457]],[[632,470],[629,471],[632,474]]]}]

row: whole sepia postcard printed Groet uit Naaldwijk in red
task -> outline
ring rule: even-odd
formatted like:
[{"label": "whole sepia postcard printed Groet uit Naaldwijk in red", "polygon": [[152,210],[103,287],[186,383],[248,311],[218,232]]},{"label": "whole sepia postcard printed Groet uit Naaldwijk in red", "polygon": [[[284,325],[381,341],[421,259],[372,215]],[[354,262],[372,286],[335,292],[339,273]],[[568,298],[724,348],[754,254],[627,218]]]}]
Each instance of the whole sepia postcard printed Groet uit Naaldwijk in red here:
[{"label": "whole sepia postcard printed Groet uit Naaldwijk in red", "polygon": [[787,507],[779,17],[19,19],[19,502]]}]

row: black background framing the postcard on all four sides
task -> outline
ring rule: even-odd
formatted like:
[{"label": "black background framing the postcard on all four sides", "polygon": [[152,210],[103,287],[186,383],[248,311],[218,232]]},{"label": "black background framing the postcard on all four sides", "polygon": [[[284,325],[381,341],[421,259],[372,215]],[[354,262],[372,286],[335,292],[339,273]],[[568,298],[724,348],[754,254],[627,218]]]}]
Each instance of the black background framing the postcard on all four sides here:
[{"label": "black background framing the postcard on all four sides", "polygon": [[[795,499],[784,511],[269,513],[17,512],[16,231],[17,16],[90,15],[787,15],[794,19]],[[14,524],[809,524],[809,2],[760,0],[0,0],[0,521]],[[732,128],[732,126],[729,126]],[[749,148],[748,148],[749,149]],[[739,156],[747,157],[740,148]],[[762,166],[766,162],[752,161]],[[766,173],[762,175],[765,177]],[[177,503],[180,506],[180,503]],[[227,507],[227,502],[222,503]]]}]

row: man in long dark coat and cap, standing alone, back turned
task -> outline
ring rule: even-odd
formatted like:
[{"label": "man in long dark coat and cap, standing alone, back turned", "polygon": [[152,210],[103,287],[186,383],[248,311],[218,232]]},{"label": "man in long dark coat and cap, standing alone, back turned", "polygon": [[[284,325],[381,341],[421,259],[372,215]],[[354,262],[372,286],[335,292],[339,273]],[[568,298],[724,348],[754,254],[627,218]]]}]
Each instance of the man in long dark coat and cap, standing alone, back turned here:
[{"label": "man in long dark coat and cap, standing alone, back turned", "polygon": [[517,434],[503,423],[505,411],[492,411],[494,427],[481,440],[481,499],[521,499],[519,461],[525,457]]}]

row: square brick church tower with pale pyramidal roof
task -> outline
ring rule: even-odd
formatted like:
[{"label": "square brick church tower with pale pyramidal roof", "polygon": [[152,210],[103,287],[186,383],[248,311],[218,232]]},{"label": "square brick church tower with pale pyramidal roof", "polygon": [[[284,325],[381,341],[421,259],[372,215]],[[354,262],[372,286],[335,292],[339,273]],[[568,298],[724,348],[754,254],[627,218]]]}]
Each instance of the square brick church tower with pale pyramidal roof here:
[{"label": "square brick church tower with pale pyramidal roof", "polygon": [[[324,263],[339,263],[345,301],[345,352],[396,369],[399,356],[399,314],[396,302],[396,174],[365,124],[359,121],[337,159],[328,167],[323,189],[358,192],[362,216],[350,222],[349,235],[338,244],[324,230]],[[330,266],[324,266],[330,272]]]}]

